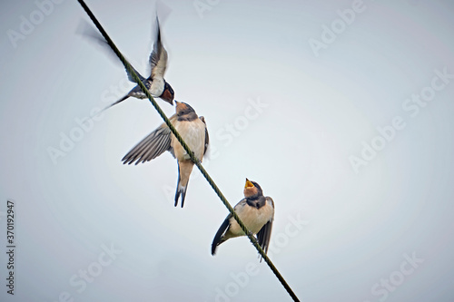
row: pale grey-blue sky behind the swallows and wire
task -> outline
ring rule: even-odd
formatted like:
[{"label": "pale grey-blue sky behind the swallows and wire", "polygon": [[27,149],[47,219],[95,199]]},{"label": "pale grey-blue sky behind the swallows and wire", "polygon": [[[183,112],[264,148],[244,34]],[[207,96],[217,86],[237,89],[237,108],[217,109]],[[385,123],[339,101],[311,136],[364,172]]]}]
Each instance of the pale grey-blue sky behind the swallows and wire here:
[{"label": "pale grey-blue sky behind the swallows and wire", "polygon": [[[166,80],[205,117],[203,163],[232,205],[246,177],[274,200],[270,257],[301,301],[452,302],[453,3],[364,0],[350,24],[337,11],[352,1],[211,3],[199,14],[192,1],[165,1]],[[77,34],[90,20],[75,0],[49,4],[0,5],[0,249],[7,200],[16,245],[15,296],[2,252],[0,300],[290,301],[248,239],[212,257],[227,209],[198,171],[181,209],[170,153],[122,164],[162,122],[150,102],[123,102],[81,128],[133,83]],[[87,5],[148,76],[154,1]],[[310,41],[331,24],[343,27],[317,56]],[[406,101],[421,92],[435,94]],[[377,128],[396,117],[405,127],[383,145]],[[372,142],[381,150],[355,170],[351,157]],[[53,161],[52,148],[64,156]]]}]

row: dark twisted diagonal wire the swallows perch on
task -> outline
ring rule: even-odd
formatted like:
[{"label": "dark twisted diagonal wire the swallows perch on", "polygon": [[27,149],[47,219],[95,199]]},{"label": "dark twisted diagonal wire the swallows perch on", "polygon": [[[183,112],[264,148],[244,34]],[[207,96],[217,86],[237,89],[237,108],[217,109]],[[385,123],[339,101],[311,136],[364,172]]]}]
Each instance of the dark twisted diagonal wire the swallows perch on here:
[{"label": "dark twisted diagonal wire the swallows perch on", "polygon": [[201,161],[199,161],[199,159],[197,159],[195,157],[195,155],[193,154],[191,149],[188,147],[186,142],[183,141],[183,138],[180,135],[180,133],[178,133],[176,131],[175,127],[173,127],[173,124],[169,121],[169,119],[167,118],[167,116],[165,115],[165,113],[163,112],[161,107],[159,107],[158,103],[156,101],[154,101],[153,96],[150,94],[148,89],[146,89],[145,85],[142,83],[140,78],[135,73],[135,71],[133,69],[133,66],[126,60],[126,58],[124,58],[123,54],[115,46],[114,42],[111,40],[109,35],[104,31],[103,26],[96,19],[96,17],[94,16],[94,14],[90,10],[90,8],[88,8],[88,6],[84,3],[84,0],[77,0],[77,1],[79,2],[80,5],[82,5],[82,7],[84,8],[85,13],[90,17],[90,19],[92,19],[94,25],[98,28],[98,30],[101,32],[101,34],[103,34],[105,41],[107,41],[107,44],[109,44],[109,46],[112,48],[114,53],[118,56],[120,61],[123,63],[124,68],[128,71],[129,74],[131,74],[133,76],[133,80],[135,81],[135,83],[137,83],[139,85],[139,87],[142,89],[143,93],[145,93],[145,95],[148,97],[150,102],[152,102],[153,107],[156,109],[156,111],[159,113],[159,115],[161,115],[161,117],[163,118],[164,122],[169,127],[169,129],[172,131],[172,133],[176,137],[176,139],[181,143],[181,145],[183,146],[184,151],[186,151],[189,154],[189,156],[191,157],[191,160],[194,162],[194,164],[197,166],[197,168],[199,168],[199,170],[202,172],[203,177],[208,181],[208,183],[210,183],[210,185],[212,186],[212,190],[214,190],[216,192],[216,194],[222,200],[222,203],[224,204],[224,206],[227,209],[229,209],[229,212],[231,213],[232,217],[238,222],[238,224],[242,228],[242,231],[244,232],[244,234],[246,234],[248,236],[248,238],[251,240],[252,245],[255,248],[257,248],[257,250],[259,251],[259,254],[262,256],[262,258],[265,260],[265,262],[271,268],[271,270],[274,273],[274,275],[276,275],[276,277],[279,279],[279,281],[281,281],[282,286],[287,290],[287,292],[289,293],[289,295],[291,296],[293,301],[300,301],[298,299],[298,297],[296,297],[295,293],[291,290],[291,287],[287,284],[287,281],[285,281],[285,279],[282,277],[282,275],[279,272],[279,270],[271,262],[271,259],[268,258],[266,253],[263,251],[262,247],[257,242],[257,239],[255,239],[255,237],[252,235],[251,231],[249,231],[244,226],[244,223],[238,217],[238,215],[236,214],[236,212],[234,211],[234,209],[230,205],[229,201],[227,201],[227,199],[223,196],[222,191],[218,188],[218,186],[216,185],[214,180],[212,180],[212,178],[208,174],[208,172],[203,168]]}]

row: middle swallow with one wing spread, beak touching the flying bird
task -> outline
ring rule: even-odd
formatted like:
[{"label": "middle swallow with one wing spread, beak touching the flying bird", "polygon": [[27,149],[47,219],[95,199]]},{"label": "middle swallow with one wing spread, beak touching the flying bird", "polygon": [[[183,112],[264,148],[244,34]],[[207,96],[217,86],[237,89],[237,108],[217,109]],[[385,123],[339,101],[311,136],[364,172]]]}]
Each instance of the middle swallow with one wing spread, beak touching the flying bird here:
[{"label": "middle swallow with one wing spread, beak touching the flying bird", "polygon": [[[183,141],[189,146],[195,157],[202,161],[209,144],[209,136],[205,119],[197,116],[197,113],[185,102],[177,102],[175,114],[170,118],[173,127],[180,133]],[[182,195],[182,208],[186,190],[188,188],[189,176],[192,172],[193,162],[189,154],[184,151],[183,146],[175,138],[165,122],[155,131],[150,133],[143,141],[139,142],[131,151],[124,155],[123,164],[135,164],[151,161],[164,151],[170,151],[178,161],[178,183],[175,193],[175,207],[178,205]]]}]

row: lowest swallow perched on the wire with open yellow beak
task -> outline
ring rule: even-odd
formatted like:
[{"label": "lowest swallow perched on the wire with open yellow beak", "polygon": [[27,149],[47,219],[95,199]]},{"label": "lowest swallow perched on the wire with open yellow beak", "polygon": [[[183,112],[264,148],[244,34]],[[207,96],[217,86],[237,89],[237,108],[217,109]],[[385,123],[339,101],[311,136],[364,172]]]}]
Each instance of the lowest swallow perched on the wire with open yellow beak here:
[{"label": "lowest swallow perched on the wire with open yellow beak", "polygon": [[[274,202],[271,197],[264,197],[259,184],[246,179],[244,199],[238,202],[233,209],[252,235],[257,234],[257,240],[266,254],[274,219]],[[222,242],[239,236],[245,236],[242,228],[232,215],[227,216],[212,240],[212,255],[216,253],[216,248]]]}]

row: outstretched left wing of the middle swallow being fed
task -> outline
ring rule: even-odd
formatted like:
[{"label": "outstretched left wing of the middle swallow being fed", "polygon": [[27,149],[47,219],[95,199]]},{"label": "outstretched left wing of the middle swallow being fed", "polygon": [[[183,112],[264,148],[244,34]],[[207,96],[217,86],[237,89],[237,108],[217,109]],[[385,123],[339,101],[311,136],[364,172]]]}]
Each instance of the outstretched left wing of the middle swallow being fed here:
[{"label": "outstretched left wing of the middle swallow being fed", "polygon": [[[170,120],[173,122],[176,119],[174,114]],[[151,132],[147,137],[140,141],[131,151],[124,155],[123,164],[135,164],[145,161],[152,161],[164,151],[170,151],[173,156],[172,132],[165,123],[159,126],[158,129]]]}]

